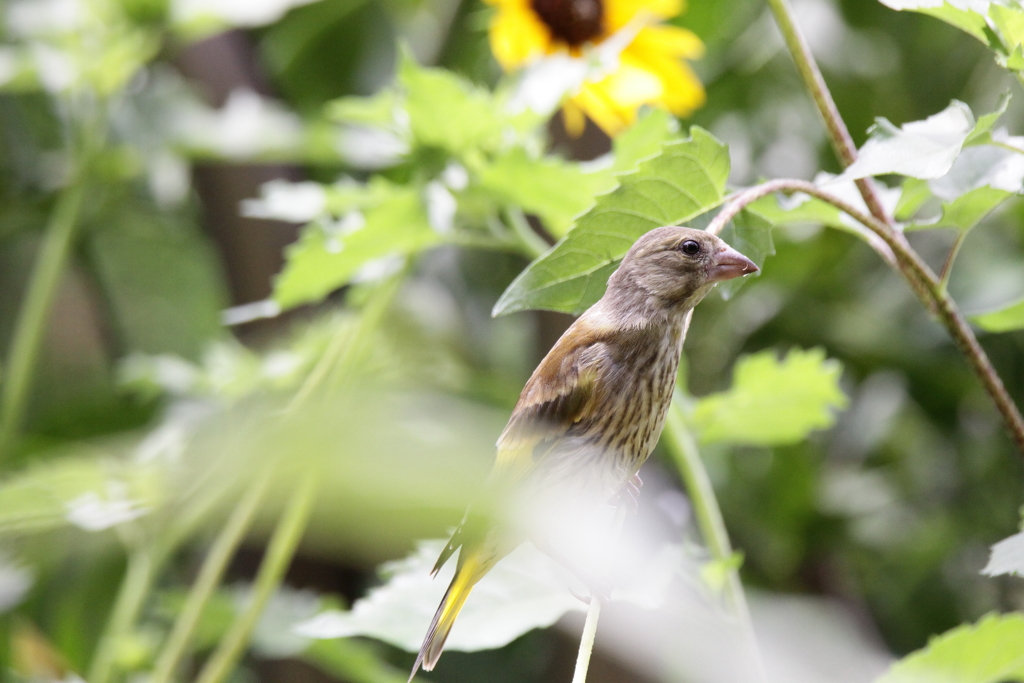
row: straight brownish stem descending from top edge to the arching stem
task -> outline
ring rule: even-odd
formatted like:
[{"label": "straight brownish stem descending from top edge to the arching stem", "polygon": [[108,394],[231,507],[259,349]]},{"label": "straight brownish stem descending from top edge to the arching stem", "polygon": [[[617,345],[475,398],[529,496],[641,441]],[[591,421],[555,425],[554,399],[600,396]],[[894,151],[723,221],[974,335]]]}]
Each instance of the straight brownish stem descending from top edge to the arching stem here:
[{"label": "straight brownish stem descending from top edge to the arching stem", "polygon": [[[831,142],[840,164],[846,168],[857,160],[857,147],[853,143],[846,122],[839,114],[839,109],[836,106],[836,100],[833,99],[828,86],[825,85],[821,70],[818,69],[814,55],[811,54],[811,48],[797,27],[797,22],[793,16],[793,8],[790,6],[788,0],[768,0],[768,6],[775,17],[775,24],[778,25],[778,29],[782,33],[785,46],[797,65],[797,72],[821,114],[825,131],[828,134],[828,141]],[[867,205],[867,210],[872,216],[891,226],[892,218],[882,206],[882,199],[879,197],[873,180],[861,178],[856,182],[857,189],[860,190],[860,196],[864,198],[864,204]]]}]

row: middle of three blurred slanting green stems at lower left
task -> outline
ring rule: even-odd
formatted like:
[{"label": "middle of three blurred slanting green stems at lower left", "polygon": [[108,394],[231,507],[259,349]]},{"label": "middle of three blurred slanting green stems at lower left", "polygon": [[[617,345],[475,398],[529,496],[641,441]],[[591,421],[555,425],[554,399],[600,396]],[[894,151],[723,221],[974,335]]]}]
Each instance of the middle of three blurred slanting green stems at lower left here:
[{"label": "middle of three blurred slanting green stems at lower left", "polygon": [[196,627],[203,615],[203,609],[220,584],[234,551],[238,550],[245,538],[269,481],[268,472],[256,477],[214,541],[206,559],[203,560],[199,575],[188,592],[184,607],[174,623],[171,635],[157,657],[150,683],[168,683],[177,670],[181,657],[191,643]]}]

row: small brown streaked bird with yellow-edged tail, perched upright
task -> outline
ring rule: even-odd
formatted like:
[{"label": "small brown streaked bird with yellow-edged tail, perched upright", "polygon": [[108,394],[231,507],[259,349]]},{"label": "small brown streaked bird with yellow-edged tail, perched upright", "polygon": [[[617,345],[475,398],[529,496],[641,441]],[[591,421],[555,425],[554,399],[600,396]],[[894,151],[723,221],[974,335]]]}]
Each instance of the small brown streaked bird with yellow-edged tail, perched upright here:
[{"label": "small brown streaked bird with yellow-edged tail, perched upright", "polygon": [[[639,240],[534,371],[498,439],[490,485],[536,492],[621,494],[657,443],[672,402],[686,314],[720,283],[758,266],[714,234],[659,227]],[[434,668],[473,586],[525,540],[481,528],[471,515],[433,571],[461,547],[455,578],[416,658]]]}]

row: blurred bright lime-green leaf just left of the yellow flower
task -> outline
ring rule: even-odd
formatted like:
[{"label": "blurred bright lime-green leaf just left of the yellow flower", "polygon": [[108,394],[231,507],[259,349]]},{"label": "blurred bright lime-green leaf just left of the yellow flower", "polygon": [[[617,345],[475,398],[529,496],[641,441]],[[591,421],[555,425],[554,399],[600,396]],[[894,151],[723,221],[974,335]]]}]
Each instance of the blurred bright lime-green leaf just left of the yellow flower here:
[{"label": "blurred bright lime-green leaf just left of the yellow flower", "polygon": [[502,141],[505,118],[489,93],[445,69],[425,69],[403,54],[398,80],[406,110],[420,144],[453,154],[494,148]]}]

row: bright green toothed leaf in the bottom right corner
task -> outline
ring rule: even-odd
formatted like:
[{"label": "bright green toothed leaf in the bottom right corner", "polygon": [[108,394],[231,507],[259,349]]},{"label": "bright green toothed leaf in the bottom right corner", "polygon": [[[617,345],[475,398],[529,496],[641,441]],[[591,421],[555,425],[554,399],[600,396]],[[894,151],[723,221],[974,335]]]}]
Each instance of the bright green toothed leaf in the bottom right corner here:
[{"label": "bright green toothed leaf in the bottom right corner", "polygon": [[1024,680],[1024,615],[988,614],[903,657],[876,683],[1001,683]]}]

